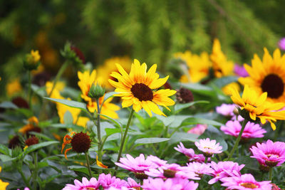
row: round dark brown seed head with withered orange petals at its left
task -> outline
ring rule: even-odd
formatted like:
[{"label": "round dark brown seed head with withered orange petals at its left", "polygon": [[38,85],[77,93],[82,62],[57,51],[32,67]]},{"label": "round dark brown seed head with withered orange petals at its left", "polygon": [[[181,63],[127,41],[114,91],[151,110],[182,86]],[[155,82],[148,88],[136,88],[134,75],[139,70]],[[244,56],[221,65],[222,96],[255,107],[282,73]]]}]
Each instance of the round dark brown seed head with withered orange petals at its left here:
[{"label": "round dark brown seed head with withered orange petals at its left", "polygon": [[88,134],[80,132],[76,133],[71,140],[71,147],[75,152],[87,152],[90,148],[91,140]]}]

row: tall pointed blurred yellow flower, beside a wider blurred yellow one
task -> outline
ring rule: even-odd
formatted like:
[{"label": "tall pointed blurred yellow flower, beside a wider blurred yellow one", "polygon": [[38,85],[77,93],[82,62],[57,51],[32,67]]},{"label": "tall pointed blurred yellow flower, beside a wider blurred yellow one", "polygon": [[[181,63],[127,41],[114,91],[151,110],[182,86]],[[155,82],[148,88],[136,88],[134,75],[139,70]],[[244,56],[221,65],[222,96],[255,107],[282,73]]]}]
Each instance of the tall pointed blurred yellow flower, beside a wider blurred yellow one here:
[{"label": "tall pointed blurred yellow flower, beside a wider blurred yellow one", "polygon": [[218,39],[214,39],[214,44],[212,48],[212,54],[210,59],[213,63],[214,75],[217,78],[221,78],[227,75],[233,75],[234,62],[227,60],[221,49],[221,44]]}]

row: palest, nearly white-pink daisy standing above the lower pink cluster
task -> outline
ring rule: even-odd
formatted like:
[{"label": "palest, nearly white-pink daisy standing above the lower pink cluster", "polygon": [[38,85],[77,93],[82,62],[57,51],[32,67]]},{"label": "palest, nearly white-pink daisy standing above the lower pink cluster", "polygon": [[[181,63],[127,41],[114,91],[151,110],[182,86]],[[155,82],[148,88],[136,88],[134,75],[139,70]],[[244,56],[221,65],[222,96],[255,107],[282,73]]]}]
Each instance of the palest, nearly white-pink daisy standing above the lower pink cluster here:
[{"label": "palest, nearly white-pink daisy standing above the lower pink cluster", "polygon": [[222,146],[219,146],[219,142],[216,144],[216,140],[199,139],[199,142],[195,142],[196,147],[203,152],[205,157],[212,157],[213,154],[219,154],[222,152]]}]

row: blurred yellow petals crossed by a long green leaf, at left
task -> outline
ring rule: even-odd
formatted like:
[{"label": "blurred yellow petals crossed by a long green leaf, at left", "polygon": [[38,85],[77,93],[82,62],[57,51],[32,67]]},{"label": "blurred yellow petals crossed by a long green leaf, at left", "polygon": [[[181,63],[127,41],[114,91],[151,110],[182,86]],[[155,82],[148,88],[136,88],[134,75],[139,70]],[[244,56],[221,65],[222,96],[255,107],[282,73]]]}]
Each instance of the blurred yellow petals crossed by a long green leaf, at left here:
[{"label": "blurred yellow petals crossed by a long green leaf, at left", "polygon": [[[51,92],[52,86],[53,86],[53,83],[46,82],[46,93]],[[65,87],[65,83],[61,83],[61,82],[56,83],[56,88],[53,90],[53,93],[51,94],[51,98],[71,100],[70,98],[66,99],[65,97],[61,96],[60,91],[63,90],[64,87]],[[88,117],[79,116],[81,110],[78,108],[69,107],[67,105],[63,105],[61,103],[56,102],[56,109],[58,110],[58,117],[61,123],[64,123],[64,115],[66,114],[67,111],[71,113],[73,117],[73,124],[75,125],[86,127],[86,123],[89,121]]]}]

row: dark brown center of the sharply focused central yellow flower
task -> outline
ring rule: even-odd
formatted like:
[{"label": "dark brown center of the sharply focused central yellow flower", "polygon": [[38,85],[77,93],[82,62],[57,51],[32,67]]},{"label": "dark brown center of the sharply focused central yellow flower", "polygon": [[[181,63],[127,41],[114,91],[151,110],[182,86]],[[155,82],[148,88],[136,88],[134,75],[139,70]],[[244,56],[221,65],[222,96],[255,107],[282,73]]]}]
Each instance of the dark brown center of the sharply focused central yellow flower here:
[{"label": "dark brown center of the sharply focused central yellow flower", "polygon": [[147,101],[147,100],[151,101],[153,99],[152,90],[145,84],[135,83],[135,85],[132,86],[130,91],[140,101]]}]

